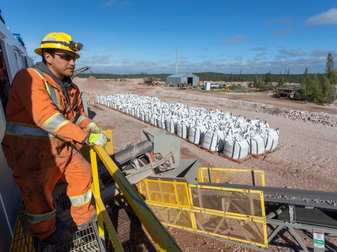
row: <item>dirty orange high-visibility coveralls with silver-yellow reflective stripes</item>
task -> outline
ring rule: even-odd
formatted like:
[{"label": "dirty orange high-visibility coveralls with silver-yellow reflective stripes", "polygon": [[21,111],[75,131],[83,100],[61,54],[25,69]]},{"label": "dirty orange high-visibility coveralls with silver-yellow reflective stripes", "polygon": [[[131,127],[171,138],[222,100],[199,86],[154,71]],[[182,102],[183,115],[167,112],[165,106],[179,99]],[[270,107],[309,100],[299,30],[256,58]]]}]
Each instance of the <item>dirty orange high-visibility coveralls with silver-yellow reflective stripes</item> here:
[{"label": "dirty orange high-visibility coveralls with silver-yellow reflective stripes", "polygon": [[[77,225],[95,213],[91,205],[91,165],[80,149],[88,136],[91,119],[86,116],[79,88],[69,86],[70,104],[48,74],[19,71],[10,87],[7,126],[2,142],[8,166],[20,187],[31,234],[44,240],[55,230],[52,190],[59,178],[68,183],[71,216]],[[78,103],[78,104],[77,104]],[[74,121],[75,113],[80,116]]]}]

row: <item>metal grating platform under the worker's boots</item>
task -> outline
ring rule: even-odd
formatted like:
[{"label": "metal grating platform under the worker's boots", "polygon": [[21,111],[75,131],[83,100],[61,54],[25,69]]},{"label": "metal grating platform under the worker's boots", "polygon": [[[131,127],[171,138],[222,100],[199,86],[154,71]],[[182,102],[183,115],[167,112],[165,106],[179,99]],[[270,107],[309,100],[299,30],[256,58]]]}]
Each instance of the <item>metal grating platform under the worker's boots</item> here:
[{"label": "metal grating platform under the worker's boots", "polygon": [[66,195],[67,184],[58,182],[53,190],[53,199],[56,204],[56,226],[60,229],[68,229],[72,237],[67,243],[60,245],[41,245],[34,242],[30,235],[28,220],[25,214],[25,206],[22,203],[17,219],[16,228],[12,238],[10,252],[34,251],[34,252],[93,252],[105,251],[98,235],[97,223],[91,223],[87,228],[78,230],[70,215],[70,201]]}]

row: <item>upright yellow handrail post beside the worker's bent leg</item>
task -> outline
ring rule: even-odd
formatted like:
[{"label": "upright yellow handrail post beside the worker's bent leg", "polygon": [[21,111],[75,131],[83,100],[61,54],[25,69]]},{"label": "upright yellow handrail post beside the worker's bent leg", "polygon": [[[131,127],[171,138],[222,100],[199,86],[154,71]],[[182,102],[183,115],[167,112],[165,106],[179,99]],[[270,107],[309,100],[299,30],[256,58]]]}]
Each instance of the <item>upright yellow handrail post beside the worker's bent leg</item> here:
[{"label": "upright yellow handrail post beside the worker's bent leg", "polygon": [[90,147],[90,160],[91,160],[91,167],[92,167],[92,179],[93,179],[93,184],[94,184],[94,196],[95,196],[95,201],[96,201],[98,234],[100,237],[102,237],[104,236],[103,217],[101,215],[101,209],[97,207],[97,199],[100,199],[101,197],[101,194],[99,191],[97,158],[96,158],[96,151],[92,147]]}]

